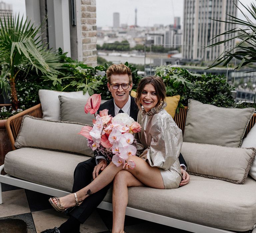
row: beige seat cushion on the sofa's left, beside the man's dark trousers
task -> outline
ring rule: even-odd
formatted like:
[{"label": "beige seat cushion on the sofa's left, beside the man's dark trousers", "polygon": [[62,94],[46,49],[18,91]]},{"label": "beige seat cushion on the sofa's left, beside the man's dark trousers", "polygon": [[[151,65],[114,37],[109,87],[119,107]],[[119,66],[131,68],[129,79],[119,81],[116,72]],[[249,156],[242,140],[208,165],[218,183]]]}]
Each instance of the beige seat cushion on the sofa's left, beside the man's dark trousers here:
[{"label": "beige seat cushion on the sofa's left, beside the man's dark trousers", "polygon": [[24,180],[71,192],[77,164],[89,158],[59,151],[20,148],[6,154],[4,170]]}]

